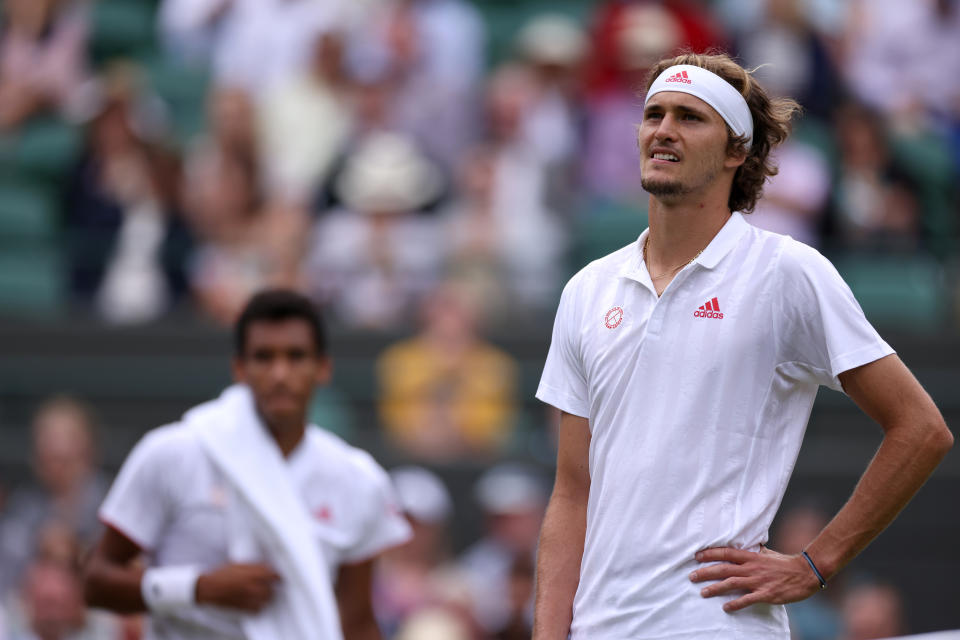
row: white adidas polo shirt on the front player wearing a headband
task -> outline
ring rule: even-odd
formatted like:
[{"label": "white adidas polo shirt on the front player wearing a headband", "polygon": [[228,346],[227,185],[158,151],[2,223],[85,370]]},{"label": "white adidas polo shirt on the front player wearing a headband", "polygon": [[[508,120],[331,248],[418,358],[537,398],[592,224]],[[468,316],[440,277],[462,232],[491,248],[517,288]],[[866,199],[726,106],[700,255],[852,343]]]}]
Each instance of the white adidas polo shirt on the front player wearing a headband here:
[{"label": "white adidas polo shirt on the front player wearing a headband", "polygon": [[574,640],[784,640],[781,606],[728,614],[688,575],[757,550],[818,385],[893,350],[817,251],[734,213],[657,297],[648,232],[567,284],[537,397],[588,418]]}]

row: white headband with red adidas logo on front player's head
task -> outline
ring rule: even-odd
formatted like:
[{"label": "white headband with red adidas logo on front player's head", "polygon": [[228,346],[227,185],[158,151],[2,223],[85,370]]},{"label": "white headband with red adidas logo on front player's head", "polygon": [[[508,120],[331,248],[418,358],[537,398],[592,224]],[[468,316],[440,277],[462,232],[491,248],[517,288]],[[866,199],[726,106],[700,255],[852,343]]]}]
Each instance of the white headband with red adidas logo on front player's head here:
[{"label": "white headband with red adidas logo on front player's head", "polygon": [[679,91],[700,98],[720,114],[737,136],[746,136],[746,148],[753,142],[753,116],[740,92],[729,82],[702,67],[678,64],[669,67],[653,81],[647,98],[661,91]]}]

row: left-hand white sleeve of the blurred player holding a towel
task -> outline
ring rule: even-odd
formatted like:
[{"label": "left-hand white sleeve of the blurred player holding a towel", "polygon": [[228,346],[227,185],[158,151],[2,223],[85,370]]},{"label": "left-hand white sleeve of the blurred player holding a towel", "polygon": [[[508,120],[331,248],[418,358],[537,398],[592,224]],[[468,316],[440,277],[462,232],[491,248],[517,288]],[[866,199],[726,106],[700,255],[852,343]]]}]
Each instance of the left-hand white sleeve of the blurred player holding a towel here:
[{"label": "left-hand white sleeve of the blurred player holding a towel", "polygon": [[100,506],[100,520],[144,550],[156,548],[170,514],[169,483],[180,466],[173,427],[146,434],[127,456]]}]

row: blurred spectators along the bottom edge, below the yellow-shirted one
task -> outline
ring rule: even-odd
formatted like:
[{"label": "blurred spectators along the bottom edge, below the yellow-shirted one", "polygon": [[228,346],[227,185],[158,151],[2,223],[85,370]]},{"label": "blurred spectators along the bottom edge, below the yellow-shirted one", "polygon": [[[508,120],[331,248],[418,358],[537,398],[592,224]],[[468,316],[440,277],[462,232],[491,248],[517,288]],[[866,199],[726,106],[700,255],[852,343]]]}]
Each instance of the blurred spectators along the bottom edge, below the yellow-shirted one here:
[{"label": "blurred spectators along the bottom edge, below the yellow-shirted one", "polygon": [[[142,620],[84,608],[80,572],[99,536],[108,487],[94,413],[55,397],[34,415],[33,477],[0,494],[0,640],[137,640]],[[455,499],[427,466],[390,470],[413,538],[383,555],[374,605],[387,640],[529,640],[533,568],[550,481],[537,467],[501,462]],[[481,520],[455,548],[452,525],[467,503]],[[827,515],[799,503],[778,518],[772,548],[797,553]],[[459,552],[458,552],[459,551]],[[791,605],[794,640],[871,640],[908,631],[901,593],[868,576],[841,575],[830,589]]]}]

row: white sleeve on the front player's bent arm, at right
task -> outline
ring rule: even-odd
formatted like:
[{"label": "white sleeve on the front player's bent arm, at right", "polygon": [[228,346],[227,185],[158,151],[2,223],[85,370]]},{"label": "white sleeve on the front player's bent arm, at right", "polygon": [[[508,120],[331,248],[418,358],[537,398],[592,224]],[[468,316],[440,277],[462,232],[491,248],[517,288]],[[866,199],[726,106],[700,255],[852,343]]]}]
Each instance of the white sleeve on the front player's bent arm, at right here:
[{"label": "white sleeve on the front player's bent arm, at right", "polygon": [[787,240],[780,259],[780,361],[842,391],[838,375],[894,351],[867,321],[850,287],[818,251]]}]

